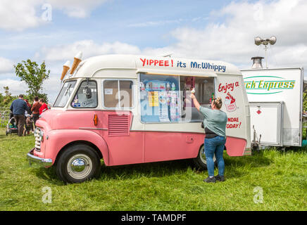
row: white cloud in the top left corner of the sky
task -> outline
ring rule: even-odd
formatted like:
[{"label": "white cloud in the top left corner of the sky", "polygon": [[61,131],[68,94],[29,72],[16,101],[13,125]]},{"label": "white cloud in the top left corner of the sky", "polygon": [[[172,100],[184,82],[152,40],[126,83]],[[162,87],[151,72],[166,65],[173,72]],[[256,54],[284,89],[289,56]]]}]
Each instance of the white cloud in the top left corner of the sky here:
[{"label": "white cloud in the top left corner of the sky", "polygon": [[1,0],[0,29],[23,31],[48,24],[53,10],[61,10],[73,18],[86,18],[106,1],[110,0]]}]

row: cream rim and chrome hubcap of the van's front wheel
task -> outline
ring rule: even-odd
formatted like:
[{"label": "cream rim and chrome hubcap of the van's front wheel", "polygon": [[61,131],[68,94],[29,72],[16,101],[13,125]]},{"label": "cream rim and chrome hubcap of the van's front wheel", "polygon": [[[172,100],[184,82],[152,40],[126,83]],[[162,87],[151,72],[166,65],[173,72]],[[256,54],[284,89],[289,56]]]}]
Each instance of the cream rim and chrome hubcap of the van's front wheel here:
[{"label": "cream rim and chrome hubcap of the van's front wheel", "polygon": [[84,179],[93,168],[92,160],[84,154],[73,155],[68,160],[67,171],[74,179]]}]

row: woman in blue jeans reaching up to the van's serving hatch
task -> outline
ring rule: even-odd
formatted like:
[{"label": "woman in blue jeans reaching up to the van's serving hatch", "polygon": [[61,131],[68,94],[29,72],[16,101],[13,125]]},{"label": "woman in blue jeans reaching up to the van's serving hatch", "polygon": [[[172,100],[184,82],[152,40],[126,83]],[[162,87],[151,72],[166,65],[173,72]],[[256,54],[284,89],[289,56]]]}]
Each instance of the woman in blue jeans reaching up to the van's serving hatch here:
[{"label": "woman in blue jeans reaching up to the van's serving hatch", "polygon": [[[207,183],[215,183],[216,180],[225,181],[223,151],[226,143],[225,129],[227,124],[227,115],[225,112],[220,110],[220,108],[222,108],[222,99],[220,97],[213,98],[211,101],[211,109],[209,109],[199,105],[199,102],[194,94],[191,94],[191,98],[195,108],[205,117],[203,120],[203,126],[205,127],[206,133],[204,150],[206,154],[209,176],[203,181]],[[214,176],[214,155],[218,162],[218,176]]]}]

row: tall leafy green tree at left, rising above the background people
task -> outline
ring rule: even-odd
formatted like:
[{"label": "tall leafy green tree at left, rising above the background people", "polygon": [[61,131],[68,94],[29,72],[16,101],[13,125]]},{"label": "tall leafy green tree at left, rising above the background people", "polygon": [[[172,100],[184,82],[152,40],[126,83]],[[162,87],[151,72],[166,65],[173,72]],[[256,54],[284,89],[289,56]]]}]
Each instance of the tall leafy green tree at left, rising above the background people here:
[{"label": "tall leafy green tree at left, rising above the background people", "polygon": [[22,63],[14,65],[15,74],[20,77],[21,81],[24,81],[29,90],[27,90],[28,97],[30,99],[38,96],[39,98],[44,98],[47,102],[47,94],[40,92],[42,90],[42,85],[46,79],[49,78],[50,70],[46,70],[46,64],[43,62],[38,65],[36,62],[32,62],[30,59],[26,61],[23,60]]}]

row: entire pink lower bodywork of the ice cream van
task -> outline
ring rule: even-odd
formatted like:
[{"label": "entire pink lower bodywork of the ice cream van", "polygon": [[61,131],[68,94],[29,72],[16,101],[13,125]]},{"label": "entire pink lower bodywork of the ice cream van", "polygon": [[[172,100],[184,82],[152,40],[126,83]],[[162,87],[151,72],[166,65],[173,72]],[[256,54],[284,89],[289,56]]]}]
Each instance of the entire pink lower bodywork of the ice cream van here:
[{"label": "entire pink lower bodywork of the ice cream van", "polygon": [[[129,111],[123,113],[121,116],[113,110],[47,110],[37,120],[37,127],[44,130],[44,141],[41,151],[35,150],[34,155],[55,162],[60,150],[69,143],[87,141],[99,148],[106,166],[113,166],[196,158],[203,145],[205,134],[132,131],[133,115]],[[228,155],[242,156],[246,140],[227,137],[225,146]]]}]

